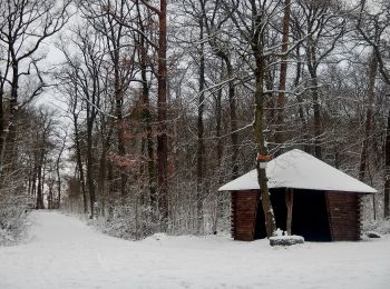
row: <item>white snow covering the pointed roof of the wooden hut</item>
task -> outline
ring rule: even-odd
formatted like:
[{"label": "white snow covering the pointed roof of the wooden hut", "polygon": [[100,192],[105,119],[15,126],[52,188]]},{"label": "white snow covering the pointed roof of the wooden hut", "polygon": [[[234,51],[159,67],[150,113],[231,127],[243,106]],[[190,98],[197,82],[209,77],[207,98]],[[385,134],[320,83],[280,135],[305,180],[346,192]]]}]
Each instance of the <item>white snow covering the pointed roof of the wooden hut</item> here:
[{"label": "white snow covering the pointed roof of the wooden hut", "polygon": [[[291,150],[267,163],[269,188],[374,193],[376,189],[302,150]],[[218,191],[259,190],[257,172],[251,170]]]}]

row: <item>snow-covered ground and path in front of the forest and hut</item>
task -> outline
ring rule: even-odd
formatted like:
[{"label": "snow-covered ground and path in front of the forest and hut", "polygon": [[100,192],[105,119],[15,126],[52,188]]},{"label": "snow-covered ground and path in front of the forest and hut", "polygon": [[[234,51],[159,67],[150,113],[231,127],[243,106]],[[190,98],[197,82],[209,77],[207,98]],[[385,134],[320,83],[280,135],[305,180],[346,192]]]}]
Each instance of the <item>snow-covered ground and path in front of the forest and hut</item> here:
[{"label": "snow-covered ground and path in front of the forest and hut", "polygon": [[390,238],[272,248],[227,237],[116,239],[57,212],[0,248],[0,288],[390,288]]}]

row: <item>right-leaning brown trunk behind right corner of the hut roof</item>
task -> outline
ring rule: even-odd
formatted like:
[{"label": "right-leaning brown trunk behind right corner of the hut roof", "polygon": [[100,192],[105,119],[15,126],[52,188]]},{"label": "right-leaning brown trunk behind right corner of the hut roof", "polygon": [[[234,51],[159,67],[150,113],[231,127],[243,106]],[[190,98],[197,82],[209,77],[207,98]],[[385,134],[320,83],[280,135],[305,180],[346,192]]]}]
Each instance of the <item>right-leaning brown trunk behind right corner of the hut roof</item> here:
[{"label": "right-leaning brown trunk behind right corner of the hut roof", "polygon": [[371,123],[372,123],[372,106],[373,98],[376,93],[376,78],[378,71],[378,59],[372,56],[369,69],[369,84],[367,90],[365,99],[365,122],[364,122],[364,139],[362,143],[360,163],[359,163],[359,180],[364,180],[365,167],[369,158],[369,143],[371,134]]}]

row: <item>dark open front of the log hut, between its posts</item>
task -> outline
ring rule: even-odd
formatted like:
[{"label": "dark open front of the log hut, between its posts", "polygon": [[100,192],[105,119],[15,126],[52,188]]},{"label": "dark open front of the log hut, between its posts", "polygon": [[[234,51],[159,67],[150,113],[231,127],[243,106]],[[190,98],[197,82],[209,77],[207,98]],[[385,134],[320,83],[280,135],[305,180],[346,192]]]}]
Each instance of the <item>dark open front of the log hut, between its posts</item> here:
[{"label": "dark open front of the log hut, between its posts", "polygon": [[[271,189],[270,192],[276,227],[285,231],[287,217],[285,189]],[[306,241],[331,241],[324,191],[294,189],[293,193],[292,233],[302,236]],[[254,238],[265,237],[264,212],[259,202]]]}]

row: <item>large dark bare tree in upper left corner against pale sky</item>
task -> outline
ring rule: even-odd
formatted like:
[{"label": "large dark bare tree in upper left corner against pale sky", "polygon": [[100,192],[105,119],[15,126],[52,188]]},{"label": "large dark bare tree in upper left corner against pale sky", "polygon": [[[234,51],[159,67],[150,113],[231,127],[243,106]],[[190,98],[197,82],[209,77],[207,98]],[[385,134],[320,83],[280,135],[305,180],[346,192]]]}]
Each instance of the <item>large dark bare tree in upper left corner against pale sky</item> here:
[{"label": "large dark bare tree in upper left corner against pale sky", "polygon": [[[50,0],[1,2],[3,14],[0,17],[0,46],[2,52],[7,51],[7,56],[1,58],[1,62],[6,61],[6,66],[4,71],[0,73],[0,156],[7,150],[6,161],[9,163],[12,163],[17,153],[14,140],[18,111],[39,96],[47,86],[38,67],[43,58],[38,54],[39,49],[47,38],[57,33],[68,21],[69,3],[69,0],[62,1],[61,4]],[[20,83],[31,74],[36,76],[38,83],[30,91],[25,91],[21,99]],[[7,124],[2,106],[6,89],[10,91]]]}]

